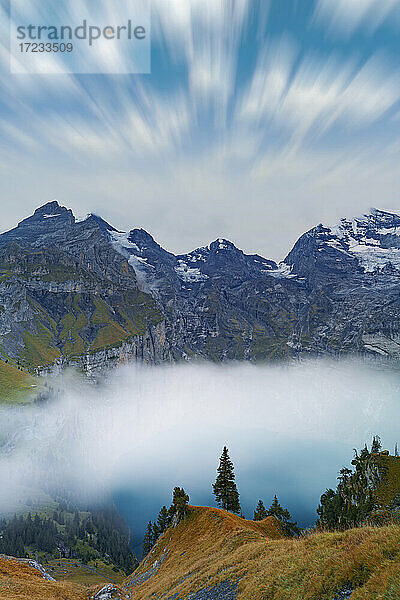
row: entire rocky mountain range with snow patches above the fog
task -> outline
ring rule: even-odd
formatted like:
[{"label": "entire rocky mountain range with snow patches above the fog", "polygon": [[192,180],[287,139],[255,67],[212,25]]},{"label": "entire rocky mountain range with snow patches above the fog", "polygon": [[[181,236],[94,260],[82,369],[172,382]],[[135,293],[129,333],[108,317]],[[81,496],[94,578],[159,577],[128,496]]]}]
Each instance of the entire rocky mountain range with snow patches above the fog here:
[{"label": "entire rocky mountain range with snow patches above the fog", "polygon": [[53,201],[0,235],[1,369],[136,359],[400,355],[400,216],[302,235],[280,264],[217,239],[188,254]]}]

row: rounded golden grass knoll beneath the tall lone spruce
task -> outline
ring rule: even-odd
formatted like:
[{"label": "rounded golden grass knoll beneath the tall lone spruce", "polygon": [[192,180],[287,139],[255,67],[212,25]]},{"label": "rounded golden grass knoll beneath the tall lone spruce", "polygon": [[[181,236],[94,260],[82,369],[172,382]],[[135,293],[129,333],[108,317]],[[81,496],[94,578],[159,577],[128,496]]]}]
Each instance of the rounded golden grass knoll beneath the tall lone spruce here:
[{"label": "rounded golden grass knoll beneath the tall lone spruce", "polygon": [[[210,578],[227,579],[239,573],[237,556],[245,546],[250,557],[254,544],[281,537],[274,517],[264,521],[246,521],[232,513],[204,507],[190,507],[188,517],[176,528],[169,528],[142,562],[134,576],[140,577],[152,568],[156,560],[162,561],[156,576],[134,590],[135,600],[161,596],[162,593],[189,593],[204,587]],[[167,552],[164,552],[164,549]],[[239,569],[239,570],[238,570]]]}]

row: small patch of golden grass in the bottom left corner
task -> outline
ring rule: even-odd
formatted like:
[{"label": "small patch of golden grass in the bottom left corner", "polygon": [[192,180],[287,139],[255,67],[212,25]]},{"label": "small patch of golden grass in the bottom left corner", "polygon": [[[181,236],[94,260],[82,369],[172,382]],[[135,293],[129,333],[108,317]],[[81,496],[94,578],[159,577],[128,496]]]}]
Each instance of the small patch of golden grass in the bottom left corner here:
[{"label": "small patch of golden grass in the bottom left corner", "polygon": [[1,600],[88,600],[88,588],[43,579],[36,569],[0,558]]}]

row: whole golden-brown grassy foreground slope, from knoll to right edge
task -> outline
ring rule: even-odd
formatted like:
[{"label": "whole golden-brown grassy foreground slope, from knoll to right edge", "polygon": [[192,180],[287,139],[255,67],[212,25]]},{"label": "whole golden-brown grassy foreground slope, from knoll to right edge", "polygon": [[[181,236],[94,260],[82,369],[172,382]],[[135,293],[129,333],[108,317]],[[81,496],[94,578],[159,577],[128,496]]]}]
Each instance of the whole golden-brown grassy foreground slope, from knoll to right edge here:
[{"label": "whole golden-brown grassy foreground slope, from knoll to right edge", "polygon": [[[279,538],[271,518],[255,523],[194,507],[186,522],[165,532],[126,586],[135,600],[187,598],[225,580],[238,582],[239,600],[332,600],[351,582],[352,600],[400,598],[398,526]],[[156,560],[158,570],[135,586]]]}]

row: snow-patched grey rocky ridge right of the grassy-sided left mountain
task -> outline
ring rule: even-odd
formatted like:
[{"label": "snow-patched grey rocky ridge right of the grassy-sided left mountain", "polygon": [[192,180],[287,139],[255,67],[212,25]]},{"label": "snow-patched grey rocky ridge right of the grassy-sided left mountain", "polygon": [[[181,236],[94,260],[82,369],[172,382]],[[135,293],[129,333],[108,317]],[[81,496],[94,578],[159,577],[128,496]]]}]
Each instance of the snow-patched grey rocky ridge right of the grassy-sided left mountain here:
[{"label": "snow-patched grey rocky ridge right of the grassy-sided left mountain", "polygon": [[305,233],[279,266],[219,239],[185,255],[147,233],[109,232],[163,306],[175,354],[397,356],[400,217],[375,210]]}]

